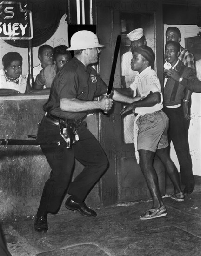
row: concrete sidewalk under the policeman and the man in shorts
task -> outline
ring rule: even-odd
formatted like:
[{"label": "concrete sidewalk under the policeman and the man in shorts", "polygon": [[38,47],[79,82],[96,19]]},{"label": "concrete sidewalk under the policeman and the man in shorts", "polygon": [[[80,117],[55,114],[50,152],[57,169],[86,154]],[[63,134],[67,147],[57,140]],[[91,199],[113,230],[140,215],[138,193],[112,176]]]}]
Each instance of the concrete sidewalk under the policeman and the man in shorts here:
[{"label": "concrete sidewalk under the policeman and the man in shorts", "polygon": [[4,223],[13,256],[200,256],[201,184],[184,202],[164,198],[168,215],[140,220],[151,201],[95,209],[96,218],[69,210],[48,215],[49,230],[34,231],[33,220]]}]

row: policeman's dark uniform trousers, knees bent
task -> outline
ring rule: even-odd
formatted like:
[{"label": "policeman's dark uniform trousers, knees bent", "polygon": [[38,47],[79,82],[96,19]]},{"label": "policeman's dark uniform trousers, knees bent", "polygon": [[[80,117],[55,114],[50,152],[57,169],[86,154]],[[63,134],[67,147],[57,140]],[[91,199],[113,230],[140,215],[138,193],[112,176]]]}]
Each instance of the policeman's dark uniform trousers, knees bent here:
[{"label": "policeman's dark uniform trousers, knees bent", "polygon": [[[52,169],[45,182],[37,215],[56,213],[65,193],[73,195],[83,202],[108,167],[108,159],[100,143],[82,121],[77,128],[79,141],[66,148],[66,142],[60,135],[59,126],[46,116],[39,124],[38,141],[60,141],[59,146],[42,146],[41,149]],[[75,159],[84,165],[84,169],[73,181]]]}]

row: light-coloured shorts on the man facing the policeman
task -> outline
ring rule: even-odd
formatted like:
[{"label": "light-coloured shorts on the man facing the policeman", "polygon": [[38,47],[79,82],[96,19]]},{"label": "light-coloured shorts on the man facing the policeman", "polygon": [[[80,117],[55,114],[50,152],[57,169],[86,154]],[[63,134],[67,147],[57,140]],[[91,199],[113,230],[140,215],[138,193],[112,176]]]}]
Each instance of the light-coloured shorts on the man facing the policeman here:
[{"label": "light-coloured shorts on the man facing the policeman", "polygon": [[167,148],[168,143],[168,116],[162,111],[141,115],[136,124],[139,128],[137,149],[156,152],[157,149]]}]

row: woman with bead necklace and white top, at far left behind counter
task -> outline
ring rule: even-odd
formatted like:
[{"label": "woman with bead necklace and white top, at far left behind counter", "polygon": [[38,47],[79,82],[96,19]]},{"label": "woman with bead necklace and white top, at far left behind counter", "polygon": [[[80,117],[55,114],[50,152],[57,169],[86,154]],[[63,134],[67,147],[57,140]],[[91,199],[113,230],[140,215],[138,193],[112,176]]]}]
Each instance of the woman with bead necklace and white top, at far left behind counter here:
[{"label": "woman with bead necklace and white top, at far left behind counter", "polygon": [[0,94],[29,93],[32,88],[22,76],[22,56],[9,52],[2,58],[3,69],[0,69]]}]

